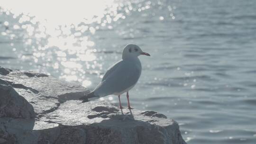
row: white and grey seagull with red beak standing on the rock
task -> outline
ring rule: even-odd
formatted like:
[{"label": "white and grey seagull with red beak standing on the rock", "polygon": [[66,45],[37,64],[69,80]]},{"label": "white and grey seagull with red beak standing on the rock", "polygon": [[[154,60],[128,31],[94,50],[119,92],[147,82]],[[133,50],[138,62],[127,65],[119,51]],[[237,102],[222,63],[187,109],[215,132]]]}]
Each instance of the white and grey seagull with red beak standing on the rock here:
[{"label": "white and grey seagull with red beak standing on the rock", "polygon": [[139,46],[128,44],[123,49],[122,60],[113,64],[104,74],[98,86],[89,94],[81,97],[82,102],[87,102],[89,98],[104,97],[108,95],[117,95],[119,99],[119,108],[121,106],[120,95],[126,92],[128,108],[130,106],[129,90],[137,83],[141,74],[141,63],[139,55],[150,54],[143,52]]}]

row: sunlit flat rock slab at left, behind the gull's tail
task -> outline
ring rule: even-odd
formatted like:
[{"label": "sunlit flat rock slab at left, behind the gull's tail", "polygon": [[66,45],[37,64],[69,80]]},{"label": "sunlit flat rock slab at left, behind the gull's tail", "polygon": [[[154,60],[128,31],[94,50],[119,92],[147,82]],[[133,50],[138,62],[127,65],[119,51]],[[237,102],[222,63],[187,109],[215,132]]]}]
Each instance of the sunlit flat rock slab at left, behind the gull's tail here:
[{"label": "sunlit flat rock slab at left, behind the gull's tail", "polygon": [[37,117],[54,111],[66,100],[79,99],[89,91],[77,83],[58,81],[36,72],[13,71],[0,75],[0,83],[11,85],[34,107]]}]

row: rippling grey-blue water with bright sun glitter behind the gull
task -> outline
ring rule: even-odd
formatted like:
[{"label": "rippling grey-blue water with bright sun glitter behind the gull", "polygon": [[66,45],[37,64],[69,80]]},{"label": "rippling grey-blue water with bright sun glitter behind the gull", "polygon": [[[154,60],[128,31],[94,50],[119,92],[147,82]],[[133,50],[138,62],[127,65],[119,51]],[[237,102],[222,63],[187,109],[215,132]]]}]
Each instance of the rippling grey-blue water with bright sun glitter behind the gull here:
[{"label": "rippling grey-blue water with bright sun glitter behind the gull", "polygon": [[188,144],[256,143],[255,0],[0,3],[2,67],[93,89],[128,43],[152,55],[134,108],[174,118]]}]

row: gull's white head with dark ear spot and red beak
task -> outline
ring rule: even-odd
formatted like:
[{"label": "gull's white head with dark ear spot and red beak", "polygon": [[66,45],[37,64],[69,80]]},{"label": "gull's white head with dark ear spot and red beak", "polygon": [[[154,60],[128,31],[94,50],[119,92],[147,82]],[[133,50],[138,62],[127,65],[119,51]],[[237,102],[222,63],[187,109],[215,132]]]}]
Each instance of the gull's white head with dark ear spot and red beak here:
[{"label": "gull's white head with dark ear spot and red beak", "polygon": [[139,55],[150,56],[150,54],[143,52],[138,45],[128,44],[123,49],[122,58],[138,57]]}]

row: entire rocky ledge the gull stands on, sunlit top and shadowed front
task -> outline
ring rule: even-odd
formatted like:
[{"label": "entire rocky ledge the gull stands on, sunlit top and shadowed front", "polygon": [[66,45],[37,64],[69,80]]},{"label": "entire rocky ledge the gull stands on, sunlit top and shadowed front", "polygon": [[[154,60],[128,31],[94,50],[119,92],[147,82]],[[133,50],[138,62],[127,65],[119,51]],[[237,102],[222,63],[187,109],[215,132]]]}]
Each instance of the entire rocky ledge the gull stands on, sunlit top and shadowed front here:
[{"label": "entire rocky ledge the gull stands on, sunlit top and shadowed front", "polygon": [[0,67],[0,144],[186,144],[173,119],[78,100],[88,92],[43,73]]}]

